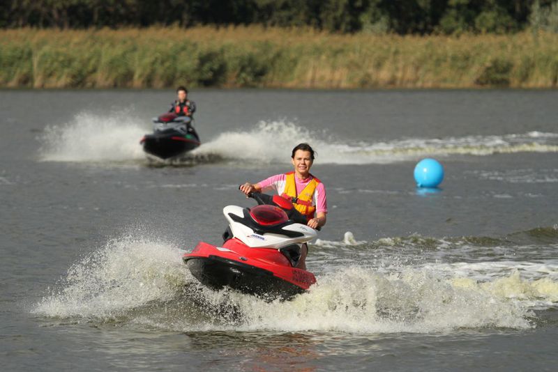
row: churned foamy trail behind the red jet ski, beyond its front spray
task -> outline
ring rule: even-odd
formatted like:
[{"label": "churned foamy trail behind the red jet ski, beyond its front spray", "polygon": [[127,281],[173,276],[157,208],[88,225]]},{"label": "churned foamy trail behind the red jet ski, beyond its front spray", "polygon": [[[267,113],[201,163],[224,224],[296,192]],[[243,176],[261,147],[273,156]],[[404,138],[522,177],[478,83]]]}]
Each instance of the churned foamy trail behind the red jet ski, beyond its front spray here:
[{"label": "churned foamy trail behind the red jet ski, beyond its front spray", "polygon": [[[472,245],[466,240],[412,236],[366,242],[355,240],[352,233],[347,232],[341,241],[317,240],[312,248],[315,248],[315,255],[322,256],[321,262],[335,262],[339,251],[360,262],[371,262],[373,256],[377,270],[382,273],[393,274],[401,268],[413,268],[443,278],[454,287],[485,292],[499,300],[518,300],[525,308],[558,307],[558,260],[549,253],[555,251],[556,245],[545,249],[532,245],[486,247],[482,242]],[[406,255],[399,251],[405,251]],[[510,252],[515,261],[509,260]],[[538,260],[527,261],[533,254],[538,254]],[[489,261],[487,256],[493,259]],[[451,262],[444,262],[448,259]]]}]

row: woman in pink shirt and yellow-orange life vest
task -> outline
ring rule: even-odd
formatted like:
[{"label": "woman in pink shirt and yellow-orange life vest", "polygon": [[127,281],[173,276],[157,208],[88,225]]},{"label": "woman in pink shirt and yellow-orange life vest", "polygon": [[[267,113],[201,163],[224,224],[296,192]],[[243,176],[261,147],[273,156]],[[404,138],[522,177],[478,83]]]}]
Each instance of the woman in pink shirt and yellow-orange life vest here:
[{"label": "woman in pink shirt and yellow-orange life vest", "polygon": [[[293,201],[294,208],[308,219],[308,226],[324,226],[327,214],[326,187],[310,174],[314,150],[308,144],[299,144],[292,149],[291,157],[294,171],[277,174],[255,184],[247,182],[240,189],[246,195],[274,189],[279,195]],[[304,244],[297,268],[306,270],[307,254],[308,246]]]}]

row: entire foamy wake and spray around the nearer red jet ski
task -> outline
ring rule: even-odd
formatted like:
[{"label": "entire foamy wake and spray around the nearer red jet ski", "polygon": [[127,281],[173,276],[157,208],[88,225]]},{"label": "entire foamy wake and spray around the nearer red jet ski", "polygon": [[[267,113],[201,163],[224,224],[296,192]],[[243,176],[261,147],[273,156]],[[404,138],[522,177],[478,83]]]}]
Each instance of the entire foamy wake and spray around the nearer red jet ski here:
[{"label": "entire foamy wake and spray around the nearer red jet ski", "polygon": [[[446,263],[423,257],[397,259],[394,246],[451,242],[412,237],[406,242],[385,238],[370,243],[352,234],[340,242],[321,240],[310,247],[308,265],[319,270],[318,284],[308,293],[289,302],[268,303],[228,290],[201,288],[183,265],[179,247],[154,240],[153,234],[146,236],[109,240],[72,265],[32,312],[61,323],[68,319],[134,323],[178,332],[372,334],[464,327],[525,329],[534,326],[533,309],[558,304],[558,263],[495,257]],[[461,242],[465,247],[467,240]],[[489,243],[489,247],[497,245]],[[481,240],[474,244],[483,245]],[[382,254],[379,247],[389,245],[389,254]],[[399,251],[409,254],[407,249]],[[422,256],[421,249],[411,250],[410,255],[416,253]],[[343,264],[333,264],[338,261]]]}]

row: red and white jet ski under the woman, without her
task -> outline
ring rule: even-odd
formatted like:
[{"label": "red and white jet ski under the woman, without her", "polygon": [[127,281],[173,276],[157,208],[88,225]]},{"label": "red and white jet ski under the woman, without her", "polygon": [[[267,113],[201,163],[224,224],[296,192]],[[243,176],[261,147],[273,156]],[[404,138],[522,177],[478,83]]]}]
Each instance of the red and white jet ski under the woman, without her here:
[{"label": "red and white jet ski under the woman, without her", "polygon": [[227,206],[223,245],[199,242],[183,256],[190,272],[209,288],[229,287],[266,300],[288,300],[315,284],[314,274],[295,268],[303,244],[316,231],[281,196],[254,193],[253,208]]}]

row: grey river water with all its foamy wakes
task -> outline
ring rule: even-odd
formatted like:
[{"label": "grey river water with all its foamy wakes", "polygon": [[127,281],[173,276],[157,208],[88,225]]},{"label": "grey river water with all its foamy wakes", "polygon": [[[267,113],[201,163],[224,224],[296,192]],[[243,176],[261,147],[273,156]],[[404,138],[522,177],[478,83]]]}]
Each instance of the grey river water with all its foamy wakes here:
[{"label": "grey river water with all its foamy wakes", "polygon": [[[0,91],[3,370],[555,369],[558,91],[190,98],[203,144],[163,163],[139,140],[172,91]],[[196,288],[183,252],[301,141],[329,203],[317,286]],[[440,189],[415,187],[423,157]]]}]

